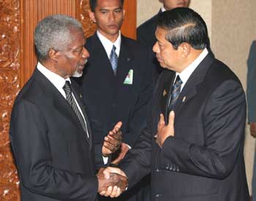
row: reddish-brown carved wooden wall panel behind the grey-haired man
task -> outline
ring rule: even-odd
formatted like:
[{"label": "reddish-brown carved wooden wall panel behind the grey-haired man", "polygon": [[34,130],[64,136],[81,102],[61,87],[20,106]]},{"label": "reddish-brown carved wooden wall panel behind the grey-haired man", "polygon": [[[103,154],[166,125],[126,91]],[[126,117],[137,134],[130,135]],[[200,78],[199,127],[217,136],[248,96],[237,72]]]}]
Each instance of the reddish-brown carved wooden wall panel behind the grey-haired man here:
[{"label": "reddish-brown carved wooden wall panel behind the grey-haired man", "polygon": [[[136,0],[125,2],[122,33],[135,38]],[[0,201],[20,200],[18,173],[10,150],[10,114],[15,97],[37,63],[34,28],[39,20],[52,14],[78,18],[86,37],[94,34],[89,0],[0,0]]]}]

